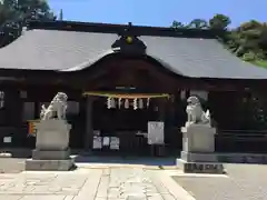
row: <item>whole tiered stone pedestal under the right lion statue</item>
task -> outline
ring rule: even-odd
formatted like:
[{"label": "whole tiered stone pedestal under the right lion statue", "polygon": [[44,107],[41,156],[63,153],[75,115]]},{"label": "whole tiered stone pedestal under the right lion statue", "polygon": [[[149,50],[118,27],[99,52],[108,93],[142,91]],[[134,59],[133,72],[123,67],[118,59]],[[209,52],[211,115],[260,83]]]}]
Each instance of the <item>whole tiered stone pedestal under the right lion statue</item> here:
[{"label": "whole tiered stone pedestal under the right lion statue", "polygon": [[184,172],[224,173],[215,152],[216,129],[209,124],[189,124],[181,128],[182,151],[177,166]]}]

